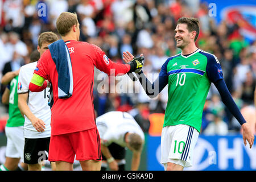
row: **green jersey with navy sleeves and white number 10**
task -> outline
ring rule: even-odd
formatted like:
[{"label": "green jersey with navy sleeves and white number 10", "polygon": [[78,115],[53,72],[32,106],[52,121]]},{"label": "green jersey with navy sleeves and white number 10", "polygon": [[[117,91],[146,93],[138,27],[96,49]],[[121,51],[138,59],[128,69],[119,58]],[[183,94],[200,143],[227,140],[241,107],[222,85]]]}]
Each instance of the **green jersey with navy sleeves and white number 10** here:
[{"label": "green jersey with navy sleeves and white number 10", "polygon": [[187,56],[180,53],[163,64],[159,77],[168,79],[168,102],[163,127],[184,124],[200,133],[210,84],[223,78],[216,56],[201,49]]}]

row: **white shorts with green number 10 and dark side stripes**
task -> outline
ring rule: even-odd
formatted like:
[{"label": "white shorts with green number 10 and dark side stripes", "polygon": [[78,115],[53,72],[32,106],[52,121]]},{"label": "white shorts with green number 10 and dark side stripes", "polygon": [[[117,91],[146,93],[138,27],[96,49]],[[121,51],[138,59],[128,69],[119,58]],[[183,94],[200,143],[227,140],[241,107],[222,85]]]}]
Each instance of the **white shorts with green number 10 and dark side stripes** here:
[{"label": "white shorts with green number 10 and dark side stripes", "polygon": [[191,167],[193,150],[198,137],[199,132],[192,126],[163,127],[160,163],[164,164],[164,169],[166,170],[168,162],[179,164],[183,167]]}]

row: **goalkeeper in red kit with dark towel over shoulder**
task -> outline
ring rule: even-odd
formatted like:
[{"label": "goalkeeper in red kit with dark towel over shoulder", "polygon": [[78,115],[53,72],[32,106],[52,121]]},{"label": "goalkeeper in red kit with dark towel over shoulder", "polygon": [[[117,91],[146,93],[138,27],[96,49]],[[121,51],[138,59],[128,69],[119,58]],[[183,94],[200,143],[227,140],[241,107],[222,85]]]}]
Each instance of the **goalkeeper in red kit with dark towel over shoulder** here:
[{"label": "goalkeeper in red kit with dark towel over shoulder", "polygon": [[44,80],[52,84],[48,160],[56,162],[56,170],[73,170],[76,155],[82,170],[100,170],[100,135],[93,108],[94,67],[117,76],[141,69],[142,62],[114,63],[99,47],[79,42],[76,14],[61,13],[56,27],[61,40],[42,55],[30,83],[32,92],[40,90]]}]

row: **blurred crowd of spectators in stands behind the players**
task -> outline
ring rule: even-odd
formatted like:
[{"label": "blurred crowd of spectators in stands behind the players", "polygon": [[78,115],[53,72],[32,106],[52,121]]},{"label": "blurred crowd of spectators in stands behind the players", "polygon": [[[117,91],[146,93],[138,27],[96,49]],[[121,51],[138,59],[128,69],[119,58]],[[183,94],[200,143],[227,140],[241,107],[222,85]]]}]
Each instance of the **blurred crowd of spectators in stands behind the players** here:
[{"label": "blurred crowd of spectators in stands behind the players", "polygon": [[[96,44],[106,55],[123,63],[122,52],[143,53],[143,72],[154,81],[168,57],[180,53],[174,40],[176,21],[181,16],[200,20],[197,46],[213,53],[221,63],[226,85],[247,121],[255,130],[254,90],[256,78],[256,40],[240,35],[238,24],[226,20],[217,23],[208,15],[208,4],[200,0],[3,0],[0,14],[0,71],[15,71],[28,63],[30,53],[38,45],[38,35],[56,32],[57,16],[63,11],[76,12],[80,22],[80,40]],[[57,33],[57,32],[56,32]],[[95,69],[94,108],[97,116],[106,111],[128,111],[145,132],[150,128],[150,115],[164,113],[167,86],[150,100],[139,84],[127,78],[114,82]],[[118,80],[119,79],[119,80]],[[133,92],[100,92],[114,85],[127,85]],[[1,93],[4,90],[1,85]],[[112,90],[113,91],[113,90]],[[135,93],[134,93],[135,92]],[[189,90],[188,90],[189,92]],[[7,107],[1,107],[0,118],[8,117]],[[171,116],[170,116],[171,117]],[[212,84],[203,112],[203,134],[239,133],[240,124],[222,104]]]}]

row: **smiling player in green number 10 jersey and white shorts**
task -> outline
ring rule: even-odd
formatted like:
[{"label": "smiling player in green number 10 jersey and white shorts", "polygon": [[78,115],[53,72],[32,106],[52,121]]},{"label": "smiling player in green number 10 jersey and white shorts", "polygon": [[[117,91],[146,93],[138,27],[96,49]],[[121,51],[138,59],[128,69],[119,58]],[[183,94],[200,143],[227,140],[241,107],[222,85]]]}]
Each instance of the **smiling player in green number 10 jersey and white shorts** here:
[{"label": "smiling player in green number 10 jersey and white shorts", "polygon": [[[193,149],[200,133],[203,107],[211,82],[242,125],[244,144],[246,140],[250,147],[254,143],[254,135],[226,87],[217,57],[196,47],[199,31],[198,19],[180,18],[175,28],[175,40],[182,52],[166,60],[153,84],[142,71],[138,73],[143,89],[151,98],[168,84],[160,160],[166,170],[183,170],[192,166]],[[130,52],[123,52],[124,61],[133,57]]]}]

